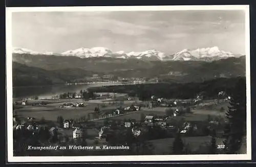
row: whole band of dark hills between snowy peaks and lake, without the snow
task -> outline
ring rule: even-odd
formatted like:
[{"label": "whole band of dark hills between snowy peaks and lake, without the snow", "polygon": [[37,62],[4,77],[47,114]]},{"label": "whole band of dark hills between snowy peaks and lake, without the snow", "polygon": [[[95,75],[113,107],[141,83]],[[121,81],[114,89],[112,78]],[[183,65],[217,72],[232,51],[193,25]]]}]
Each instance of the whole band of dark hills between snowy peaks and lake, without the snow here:
[{"label": "whole band of dark hills between snowy peaks and lake, without the snow", "polygon": [[[245,76],[245,56],[218,61],[143,61],[138,59],[14,55],[13,76],[22,85],[63,83],[93,74],[119,77],[158,78],[167,82],[202,82],[224,77]],[[20,84],[18,84],[20,85]]]}]

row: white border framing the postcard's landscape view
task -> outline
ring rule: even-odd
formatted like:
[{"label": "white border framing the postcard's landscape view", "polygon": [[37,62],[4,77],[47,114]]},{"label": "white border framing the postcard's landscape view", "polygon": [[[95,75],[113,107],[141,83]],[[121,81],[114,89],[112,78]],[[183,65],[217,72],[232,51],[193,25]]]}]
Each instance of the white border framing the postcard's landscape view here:
[{"label": "white border framing the postcard's landscape view", "polygon": [[[12,12],[92,12],[92,11],[174,11],[174,10],[244,10],[246,23],[246,96],[247,154],[236,155],[143,155],[143,156],[44,156],[14,157],[12,133]],[[29,7],[6,8],[6,71],[7,71],[7,140],[8,162],[81,162],[81,161],[179,161],[179,160],[251,160],[251,95],[250,95],[250,32],[249,5],[216,6],[119,6],[119,7]]]}]

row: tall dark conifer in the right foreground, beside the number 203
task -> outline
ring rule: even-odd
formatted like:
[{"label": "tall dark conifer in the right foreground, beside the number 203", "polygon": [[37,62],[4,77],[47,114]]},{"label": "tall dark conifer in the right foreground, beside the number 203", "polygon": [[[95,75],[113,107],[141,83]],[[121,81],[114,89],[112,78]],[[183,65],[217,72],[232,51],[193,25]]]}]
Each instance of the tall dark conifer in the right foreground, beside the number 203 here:
[{"label": "tall dark conifer in the right foreground, beside the number 203", "polygon": [[230,107],[226,112],[228,124],[224,130],[224,145],[227,154],[236,154],[246,135],[246,82],[241,78],[230,99]]}]

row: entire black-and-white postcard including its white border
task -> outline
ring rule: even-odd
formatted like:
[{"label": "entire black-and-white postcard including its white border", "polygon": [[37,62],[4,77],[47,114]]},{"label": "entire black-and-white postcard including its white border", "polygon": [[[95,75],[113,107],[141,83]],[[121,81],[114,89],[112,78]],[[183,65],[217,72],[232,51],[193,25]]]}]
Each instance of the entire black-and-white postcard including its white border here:
[{"label": "entire black-and-white postcard including its white border", "polygon": [[6,15],[8,161],[251,159],[249,6]]}]

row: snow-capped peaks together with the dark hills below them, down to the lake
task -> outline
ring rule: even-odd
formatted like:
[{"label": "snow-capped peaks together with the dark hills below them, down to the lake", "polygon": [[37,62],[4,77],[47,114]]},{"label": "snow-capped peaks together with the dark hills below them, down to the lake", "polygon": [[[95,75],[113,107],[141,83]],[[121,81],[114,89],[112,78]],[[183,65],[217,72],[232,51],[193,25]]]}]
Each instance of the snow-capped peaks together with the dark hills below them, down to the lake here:
[{"label": "snow-capped peaks together with the dark hills below them, down to the lake", "polygon": [[167,82],[201,82],[219,77],[245,76],[245,55],[218,47],[161,51],[112,52],[104,47],[80,48],[63,53],[40,53],[14,48],[14,86],[63,84],[87,81],[93,74],[121,78],[155,79]]}]

